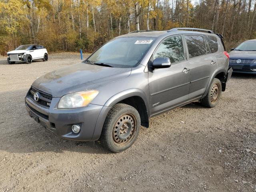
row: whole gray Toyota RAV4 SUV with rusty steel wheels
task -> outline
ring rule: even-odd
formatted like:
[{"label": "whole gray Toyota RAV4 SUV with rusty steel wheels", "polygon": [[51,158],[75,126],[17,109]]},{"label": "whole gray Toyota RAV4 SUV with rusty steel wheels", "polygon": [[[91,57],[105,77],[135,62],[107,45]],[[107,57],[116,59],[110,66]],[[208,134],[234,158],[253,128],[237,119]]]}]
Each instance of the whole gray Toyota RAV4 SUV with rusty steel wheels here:
[{"label": "whole gray Toyota RAV4 SUV with rusty steel wheels", "polygon": [[194,101],[218,104],[232,74],[222,38],[195,28],[118,36],[35,80],[26,110],[57,136],[121,152],[153,116]]}]

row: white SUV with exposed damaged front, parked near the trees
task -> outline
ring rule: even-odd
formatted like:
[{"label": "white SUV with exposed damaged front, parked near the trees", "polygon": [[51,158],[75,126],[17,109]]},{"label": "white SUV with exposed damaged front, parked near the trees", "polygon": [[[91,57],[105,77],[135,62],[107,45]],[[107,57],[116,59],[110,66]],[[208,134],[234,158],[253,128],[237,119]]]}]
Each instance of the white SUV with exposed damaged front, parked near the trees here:
[{"label": "white SUV with exposed damaged front, parked near the trees", "polygon": [[15,64],[15,62],[30,64],[32,60],[48,60],[48,52],[42,45],[20,45],[15,50],[9,51],[7,55],[7,62],[9,64]]}]

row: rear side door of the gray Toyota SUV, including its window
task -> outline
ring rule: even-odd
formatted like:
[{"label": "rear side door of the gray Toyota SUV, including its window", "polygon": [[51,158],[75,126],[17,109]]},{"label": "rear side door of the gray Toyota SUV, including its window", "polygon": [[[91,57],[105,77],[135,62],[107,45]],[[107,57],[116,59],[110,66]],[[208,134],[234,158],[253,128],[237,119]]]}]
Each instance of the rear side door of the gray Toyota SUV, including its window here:
[{"label": "rear side door of the gray Toyota SUV, including its window", "polygon": [[189,99],[194,99],[206,91],[212,74],[217,70],[217,61],[203,35],[189,34],[184,37],[191,66]]}]

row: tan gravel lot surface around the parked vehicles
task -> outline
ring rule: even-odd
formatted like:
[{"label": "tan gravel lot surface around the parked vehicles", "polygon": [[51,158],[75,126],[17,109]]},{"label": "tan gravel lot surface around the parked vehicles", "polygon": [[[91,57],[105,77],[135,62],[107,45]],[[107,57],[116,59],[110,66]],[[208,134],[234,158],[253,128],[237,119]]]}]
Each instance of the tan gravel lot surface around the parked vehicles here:
[{"label": "tan gravel lot surface around the parked vehicles", "polygon": [[232,76],[216,108],[194,102],[152,118],[131,148],[108,154],[54,136],[25,110],[37,77],[79,61],[0,58],[0,191],[256,191],[256,76]]}]

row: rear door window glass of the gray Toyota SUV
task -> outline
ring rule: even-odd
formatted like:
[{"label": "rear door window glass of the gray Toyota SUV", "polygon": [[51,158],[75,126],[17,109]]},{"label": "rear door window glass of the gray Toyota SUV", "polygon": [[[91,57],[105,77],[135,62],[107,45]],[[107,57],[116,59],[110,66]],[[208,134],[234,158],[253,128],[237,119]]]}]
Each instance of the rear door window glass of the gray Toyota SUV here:
[{"label": "rear door window glass of the gray Toyota SUV", "polygon": [[204,38],[202,36],[186,35],[185,39],[188,45],[189,58],[206,54],[206,47],[204,43]]}]

